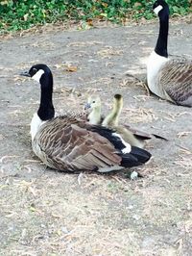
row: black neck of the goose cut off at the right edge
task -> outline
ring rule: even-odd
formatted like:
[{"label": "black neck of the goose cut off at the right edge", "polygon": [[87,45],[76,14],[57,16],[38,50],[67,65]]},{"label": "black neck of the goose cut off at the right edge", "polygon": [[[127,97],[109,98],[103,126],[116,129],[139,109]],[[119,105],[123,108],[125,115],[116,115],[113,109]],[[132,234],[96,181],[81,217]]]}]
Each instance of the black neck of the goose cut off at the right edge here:
[{"label": "black neck of the goose cut off at the right edge", "polygon": [[167,41],[169,31],[169,14],[159,16],[159,33],[156,42],[156,54],[168,58]]}]

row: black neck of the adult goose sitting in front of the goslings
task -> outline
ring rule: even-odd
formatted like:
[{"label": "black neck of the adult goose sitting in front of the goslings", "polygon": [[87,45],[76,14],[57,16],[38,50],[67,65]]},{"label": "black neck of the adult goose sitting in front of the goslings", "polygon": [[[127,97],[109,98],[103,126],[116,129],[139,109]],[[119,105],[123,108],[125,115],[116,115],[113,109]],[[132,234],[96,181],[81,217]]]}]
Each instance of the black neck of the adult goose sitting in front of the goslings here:
[{"label": "black neck of the adult goose sitting in front of the goslings", "polygon": [[53,76],[43,74],[40,78],[40,106],[37,115],[43,121],[49,120],[55,116],[54,105],[52,101],[53,95]]}]

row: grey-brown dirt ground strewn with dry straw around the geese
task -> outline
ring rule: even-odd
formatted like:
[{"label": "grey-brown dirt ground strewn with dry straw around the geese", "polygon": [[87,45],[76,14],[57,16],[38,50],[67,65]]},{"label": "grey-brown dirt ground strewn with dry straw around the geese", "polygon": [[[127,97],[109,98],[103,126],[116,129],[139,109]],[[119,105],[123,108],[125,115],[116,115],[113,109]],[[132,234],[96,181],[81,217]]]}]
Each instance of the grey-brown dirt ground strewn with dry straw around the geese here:
[{"label": "grey-brown dirt ground strewn with dry straw around the geese", "polygon": [[[148,25],[52,31],[0,42],[0,255],[192,255],[191,109],[149,95],[146,60],[157,21]],[[192,57],[192,24],[170,25],[169,52]],[[98,93],[108,112],[124,95],[122,123],[168,138],[153,158],[126,173],[69,174],[46,168],[31,149],[29,124],[39,87],[19,77],[32,64],[54,73],[58,114],[81,110]],[[133,168],[134,169],[134,168]]]}]

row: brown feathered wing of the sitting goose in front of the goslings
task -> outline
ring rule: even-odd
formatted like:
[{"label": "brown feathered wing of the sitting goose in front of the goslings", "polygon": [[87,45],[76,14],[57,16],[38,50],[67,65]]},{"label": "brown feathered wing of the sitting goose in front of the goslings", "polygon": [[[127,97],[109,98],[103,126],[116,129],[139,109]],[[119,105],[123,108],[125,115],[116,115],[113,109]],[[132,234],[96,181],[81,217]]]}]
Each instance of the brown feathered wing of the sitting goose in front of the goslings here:
[{"label": "brown feathered wing of the sitting goose in front of the goslings", "polygon": [[73,171],[120,165],[122,159],[114,154],[114,146],[88,130],[89,126],[76,118],[61,116],[46,122],[36,141],[50,166]]}]

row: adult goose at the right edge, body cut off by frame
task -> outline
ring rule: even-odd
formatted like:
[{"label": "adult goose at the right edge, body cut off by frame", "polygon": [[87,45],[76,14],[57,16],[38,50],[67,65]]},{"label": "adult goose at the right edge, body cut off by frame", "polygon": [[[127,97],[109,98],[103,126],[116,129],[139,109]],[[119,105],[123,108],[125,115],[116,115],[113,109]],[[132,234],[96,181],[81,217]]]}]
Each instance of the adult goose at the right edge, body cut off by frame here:
[{"label": "adult goose at the right edge, body cut off by frame", "polygon": [[157,0],[153,10],[159,17],[159,34],[147,64],[148,87],[160,98],[192,107],[192,61],[168,58],[169,6]]}]

